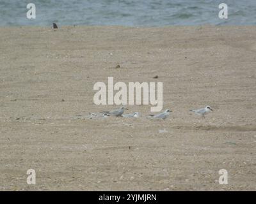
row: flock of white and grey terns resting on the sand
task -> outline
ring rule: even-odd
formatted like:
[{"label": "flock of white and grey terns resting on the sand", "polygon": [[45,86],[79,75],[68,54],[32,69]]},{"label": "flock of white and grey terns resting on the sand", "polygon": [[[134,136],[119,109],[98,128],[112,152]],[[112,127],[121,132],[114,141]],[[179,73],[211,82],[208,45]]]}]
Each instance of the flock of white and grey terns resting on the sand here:
[{"label": "flock of white and grey terns resting on the sand", "polygon": [[[125,118],[138,118],[140,117],[140,113],[134,112],[134,113],[128,113],[124,114],[125,110],[128,110],[125,107],[121,107],[116,110],[111,111],[102,111],[99,113],[89,113],[88,119],[106,119],[108,117],[125,117]],[[205,114],[209,112],[213,112],[212,108],[210,106],[205,106],[205,108],[200,108],[197,110],[189,110],[191,112],[196,113],[197,115],[201,115],[202,119],[205,118]],[[163,119],[165,120],[170,116],[170,113],[172,113],[172,110],[166,109],[164,112],[158,113],[156,115],[148,115],[148,119]]]}]

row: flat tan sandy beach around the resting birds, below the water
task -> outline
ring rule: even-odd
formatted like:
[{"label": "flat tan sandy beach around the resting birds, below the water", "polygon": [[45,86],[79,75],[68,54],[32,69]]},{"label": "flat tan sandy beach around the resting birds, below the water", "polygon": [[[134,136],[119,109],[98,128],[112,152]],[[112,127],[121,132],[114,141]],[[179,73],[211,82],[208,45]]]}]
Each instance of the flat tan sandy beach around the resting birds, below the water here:
[{"label": "flat tan sandy beach around the resting birds, below the water", "polygon": [[[256,27],[1,27],[0,39],[1,191],[256,190]],[[172,116],[130,105],[143,118],[76,119],[116,108],[93,104],[108,77],[163,82]],[[189,112],[205,105],[205,120]]]}]

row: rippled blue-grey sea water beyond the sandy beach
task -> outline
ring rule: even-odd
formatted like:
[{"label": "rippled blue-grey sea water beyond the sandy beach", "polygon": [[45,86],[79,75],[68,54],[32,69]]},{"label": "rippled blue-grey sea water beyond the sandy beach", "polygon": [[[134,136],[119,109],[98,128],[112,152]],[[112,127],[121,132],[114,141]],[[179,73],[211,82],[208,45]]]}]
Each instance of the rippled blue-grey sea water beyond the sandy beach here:
[{"label": "rippled blue-grey sea water beyond the sandy beach", "polygon": [[[26,17],[28,3],[36,19]],[[218,17],[220,3],[228,19]],[[0,0],[0,26],[9,25],[256,25],[256,0]]]}]

